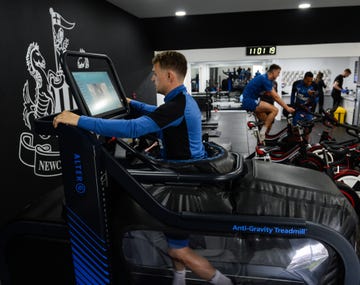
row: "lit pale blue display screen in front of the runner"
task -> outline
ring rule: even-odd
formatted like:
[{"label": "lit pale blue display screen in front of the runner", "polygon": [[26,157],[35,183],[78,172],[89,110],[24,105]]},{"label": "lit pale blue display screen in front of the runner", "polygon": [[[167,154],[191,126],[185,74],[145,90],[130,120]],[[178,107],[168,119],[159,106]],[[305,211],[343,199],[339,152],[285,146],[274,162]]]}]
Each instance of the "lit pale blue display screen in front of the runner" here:
[{"label": "lit pale blue display screen in front of the runner", "polygon": [[72,75],[91,116],[106,117],[125,108],[107,71],[72,72]]}]

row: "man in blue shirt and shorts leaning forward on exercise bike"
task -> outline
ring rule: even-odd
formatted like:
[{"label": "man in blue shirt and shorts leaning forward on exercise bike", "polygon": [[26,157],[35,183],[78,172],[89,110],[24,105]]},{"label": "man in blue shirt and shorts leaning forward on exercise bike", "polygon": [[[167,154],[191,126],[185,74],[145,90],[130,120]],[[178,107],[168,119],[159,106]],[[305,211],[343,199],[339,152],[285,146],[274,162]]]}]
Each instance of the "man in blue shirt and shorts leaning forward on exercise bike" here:
[{"label": "man in blue shirt and shorts leaning forward on exercise bike", "polygon": [[265,134],[270,132],[279,110],[274,105],[260,100],[264,92],[274,98],[274,100],[289,113],[293,113],[295,109],[288,106],[275,91],[273,81],[279,76],[281,67],[277,64],[270,65],[265,74],[254,77],[246,85],[243,92],[242,108],[247,111],[255,112],[256,117],[264,122],[263,128],[260,130],[260,142],[265,140]]}]

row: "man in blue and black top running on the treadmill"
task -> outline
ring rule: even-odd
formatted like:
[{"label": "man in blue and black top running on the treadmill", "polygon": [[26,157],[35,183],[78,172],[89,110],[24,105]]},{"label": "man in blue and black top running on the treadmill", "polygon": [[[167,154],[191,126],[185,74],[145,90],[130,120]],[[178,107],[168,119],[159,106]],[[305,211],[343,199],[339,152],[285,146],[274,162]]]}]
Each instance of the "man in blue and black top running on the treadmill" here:
[{"label": "man in blue and black top running on the treadmill", "polygon": [[[79,116],[63,111],[54,118],[59,123],[78,126],[109,137],[136,138],[160,133],[159,145],[164,159],[201,160],[207,157],[202,142],[201,112],[184,86],[187,72],[185,56],[176,51],[164,51],[152,60],[156,91],[164,94],[164,104],[153,106],[127,99],[130,107],[143,115],[135,119],[108,120]],[[173,285],[185,284],[185,268],[189,268],[210,284],[231,285],[232,281],[216,270],[204,257],[189,247],[187,234],[169,235],[168,253],[175,267]]]}]

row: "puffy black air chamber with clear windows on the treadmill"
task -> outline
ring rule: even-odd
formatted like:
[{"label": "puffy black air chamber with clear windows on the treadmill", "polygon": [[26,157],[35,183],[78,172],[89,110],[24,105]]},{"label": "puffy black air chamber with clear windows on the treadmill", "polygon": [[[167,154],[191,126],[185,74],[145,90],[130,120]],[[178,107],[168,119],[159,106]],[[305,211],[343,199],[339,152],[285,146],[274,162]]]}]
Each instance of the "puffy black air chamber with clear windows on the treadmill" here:
[{"label": "puffy black air chamber with clear windows on the treadmill", "polygon": [[[247,169],[244,177],[233,181],[231,191],[214,191],[217,197],[212,198],[217,202],[212,205],[207,204],[208,197],[202,196],[213,193],[211,184],[187,189],[154,184],[147,190],[166,207],[177,205],[175,210],[182,213],[192,209],[210,215],[216,210],[223,214],[231,211],[233,216],[255,216],[259,221],[270,218],[275,222],[272,226],[234,224],[232,233],[222,235],[211,229],[190,233],[190,246],[238,284],[344,284],[342,259],[326,242],[326,236],[321,240],[310,238],[306,226],[281,225],[282,218],[322,225],[340,233],[357,251],[357,215],[331,179],[310,169],[259,160],[247,161]],[[181,208],[187,199],[196,206]],[[141,284],[142,274],[162,274],[171,279],[172,262],[166,249],[161,231],[136,229],[124,233],[121,250],[134,280],[139,281],[136,284]],[[191,272],[187,276],[197,280]]]}]

